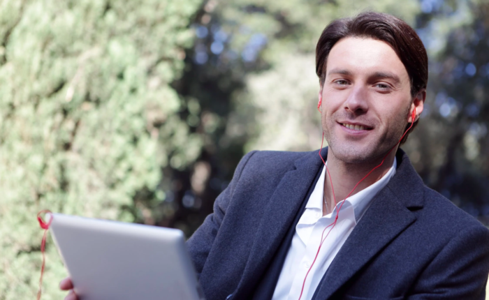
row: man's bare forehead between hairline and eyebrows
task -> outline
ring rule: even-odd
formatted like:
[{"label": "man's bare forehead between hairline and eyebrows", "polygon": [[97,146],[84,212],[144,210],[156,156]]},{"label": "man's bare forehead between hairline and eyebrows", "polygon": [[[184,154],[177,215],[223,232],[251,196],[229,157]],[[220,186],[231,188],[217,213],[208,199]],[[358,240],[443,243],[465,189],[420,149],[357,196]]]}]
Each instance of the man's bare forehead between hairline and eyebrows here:
[{"label": "man's bare forehead between hairline and eyebrows", "polygon": [[342,38],[331,49],[326,62],[326,75],[333,69],[347,70],[353,75],[394,73],[409,82],[402,61],[388,43],[372,38]]}]

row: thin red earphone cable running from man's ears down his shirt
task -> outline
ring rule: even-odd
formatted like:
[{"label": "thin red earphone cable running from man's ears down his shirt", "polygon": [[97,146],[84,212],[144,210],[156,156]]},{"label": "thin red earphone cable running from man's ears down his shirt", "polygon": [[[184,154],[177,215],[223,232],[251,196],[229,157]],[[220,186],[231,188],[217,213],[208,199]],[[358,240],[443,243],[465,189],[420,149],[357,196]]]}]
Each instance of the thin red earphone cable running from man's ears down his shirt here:
[{"label": "thin red earphone cable running from man's ears down his shirt", "polygon": [[[319,105],[318,105],[319,106]],[[402,139],[404,138],[404,135],[407,134],[407,132],[413,127],[413,124],[414,124],[414,118],[416,117],[416,107],[414,108],[412,114],[411,114],[411,126],[409,126],[409,128],[407,128],[407,130],[404,132],[404,134],[402,135],[402,137],[399,139],[399,141],[391,148],[391,150],[389,150],[386,154],[386,156],[384,156],[384,158],[382,158],[382,161],[379,165],[377,165],[377,167],[374,167],[372,170],[370,170],[370,172],[368,172],[367,175],[365,175],[365,177],[363,177],[362,179],[360,179],[360,181],[358,181],[358,183],[356,183],[356,185],[353,187],[353,190],[351,190],[351,192],[344,198],[342,204],[340,205],[340,207],[336,210],[336,216],[335,216],[335,220],[333,221],[333,223],[331,223],[330,225],[326,226],[326,228],[324,228],[323,232],[321,233],[321,243],[319,243],[319,248],[316,252],[316,256],[314,257],[314,260],[312,261],[312,264],[311,264],[311,267],[309,267],[309,270],[307,270],[307,273],[306,273],[306,276],[304,277],[304,281],[302,282],[302,289],[300,290],[300,296],[299,296],[299,299],[302,297],[302,293],[304,292],[304,287],[305,287],[305,282],[307,280],[307,276],[309,275],[309,272],[312,270],[312,267],[314,266],[314,262],[316,262],[316,259],[319,255],[319,251],[321,251],[321,246],[323,246],[323,243],[324,241],[326,241],[326,238],[328,238],[328,235],[330,234],[330,232],[333,230],[333,228],[335,228],[335,225],[336,225],[336,222],[338,220],[338,215],[340,213],[340,210],[342,209],[343,207],[343,204],[344,202],[346,201],[346,199],[348,199],[348,197],[350,197],[350,195],[353,193],[353,191],[356,189],[356,187],[358,186],[358,184],[360,184],[360,182],[362,182],[365,178],[367,178],[372,172],[374,172],[374,170],[376,170],[378,167],[380,167],[383,163],[384,163],[384,160],[386,160],[387,156],[389,154],[391,154],[391,152],[393,151],[393,149],[397,146],[397,144],[399,144]],[[335,207],[337,205],[336,203],[336,197],[335,197],[335,189],[333,188],[333,180],[331,179],[331,174],[330,174],[330,171],[328,170],[328,165],[326,165],[326,161],[323,159],[323,156],[321,156],[321,151],[323,150],[323,142],[324,142],[324,133],[323,133],[323,138],[321,140],[321,149],[319,149],[319,157],[321,158],[321,160],[323,161],[323,164],[324,166],[326,167],[326,171],[328,172],[328,177],[330,179],[330,184],[331,184],[331,191],[333,192],[333,200],[335,201]],[[328,231],[328,234],[326,234],[326,237],[324,237],[323,239],[323,235],[324,235],[324,232],[326,232],[326,230],[328,229],[328,227],[331,227],[330,230]]]}]

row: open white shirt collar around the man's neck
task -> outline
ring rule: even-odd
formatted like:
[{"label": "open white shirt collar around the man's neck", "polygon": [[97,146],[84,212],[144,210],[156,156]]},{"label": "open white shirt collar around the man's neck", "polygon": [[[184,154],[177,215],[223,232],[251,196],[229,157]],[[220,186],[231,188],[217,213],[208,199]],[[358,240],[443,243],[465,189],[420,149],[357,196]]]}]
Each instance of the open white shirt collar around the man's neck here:
[{"label": "open white shirt collar around the man's neck", "polygon": [[[397,160],[394,158],[393,165],[391,166],[391,169],[388,170],[386,174],[384,174],[381,179],[378,181],[374,182],[372,185],[367,186],[367,188],[364,188],[363,190],[360,190],[360,192],[356,193],[355,195],[351,195],[346,199],[346,202],[348,202],[352,207],[353,211],[355,212],[355,221],[358,223],[360,218],[363,216],[363,213],[367,211],[367,208],[370,206],[370,203],[372,202],[372,199],[379,193],[379,191],[384,188],[389,180],[395,175],[395,169],[397,167]],[[316,183],[316,186],[314,187],[314,190],[312,191],[311,196],[309,197],[309,201],[307,201],[306,204],[306,209],[319,209],[323,210],[323,191],[324,191],[324,177],[326,176],[326,166],[323,167],[323,170],[321,171],[321,176],[319,177],[319,180]],[[340,204],[341,201],[338,202]],[[346,203],[345,203],[346,205]],[[343,209],[342,209],[343,210]]]}]

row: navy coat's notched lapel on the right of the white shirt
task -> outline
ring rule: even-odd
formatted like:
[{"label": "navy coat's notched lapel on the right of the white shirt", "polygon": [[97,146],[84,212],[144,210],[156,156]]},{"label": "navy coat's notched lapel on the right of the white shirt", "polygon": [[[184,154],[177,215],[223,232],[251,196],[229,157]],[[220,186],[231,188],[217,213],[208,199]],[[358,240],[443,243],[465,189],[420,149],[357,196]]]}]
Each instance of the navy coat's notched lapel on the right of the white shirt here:
[{"label": "navy coat's notched lapel on the right of the white shirt", "polygon": [[397,153],[397,170],[351,232],[323,276],[313,299],[328,299],[374,255],[416,221],[409,209],[423,207],[423,181],[409,158]]}]

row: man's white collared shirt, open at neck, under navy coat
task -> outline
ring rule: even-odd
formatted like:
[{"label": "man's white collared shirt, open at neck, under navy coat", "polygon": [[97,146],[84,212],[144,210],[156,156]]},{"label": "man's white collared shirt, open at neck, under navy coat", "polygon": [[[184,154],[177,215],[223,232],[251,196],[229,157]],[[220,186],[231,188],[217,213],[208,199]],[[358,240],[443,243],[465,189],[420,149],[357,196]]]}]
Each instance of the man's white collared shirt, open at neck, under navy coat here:
[{"label": "man's white collared shirt, open at neck, under navy coat", "polygon": [[[300,298],[301,300],[312,299],[319,282],[328,270],[331,262],[333,262],[336,254],[342,248],[351,231],[363,216],[363,213],[367,211],[367,208],[372,202],[372,198],[394,176],[396,167],[397,163],[394,158],[391,169],[379,181],[360,190],[355,195],[346,198],[346,201],[338,202],[333,212],[326,216],[323,216],[323,190],[326,173],[326,167],[323,167],[321,177],[319,177],[309,200],[307,200],[305,211],[295,226],[295,234],[291,247],[280,272],[272,300],[299,300],[302,283],[314,261],[314,257],[316,257],[319,244],[321,243],[321,234],[325,227],[333,223],[337,208],[341,207],[337,223],[321,246],[316,262],[314,262],[311,271],[309,271],[309,275],[307,275],[304,292],[302,292],[302,297]],[[342,202],[344,202],[343,205]],[[324,231],[325,237],[330,231],[330,228]]]}]

